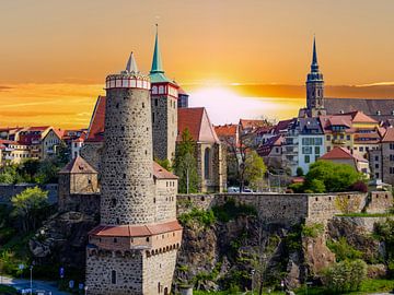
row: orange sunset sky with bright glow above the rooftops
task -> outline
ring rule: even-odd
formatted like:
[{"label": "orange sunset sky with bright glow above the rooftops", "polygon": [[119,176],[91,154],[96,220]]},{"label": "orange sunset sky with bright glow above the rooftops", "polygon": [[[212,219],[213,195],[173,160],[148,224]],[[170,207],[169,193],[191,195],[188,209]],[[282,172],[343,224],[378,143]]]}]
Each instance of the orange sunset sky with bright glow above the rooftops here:
[{"label": "orange sunset sky with bright glow above the rooftops", "polygon": [[327,96],[394,97],[393,11],[393,0],[2,0],[0,125],[88,127],[131,50],[149,71],[155,23],[167,76],[217,123],[294,116],[314,34]]}]

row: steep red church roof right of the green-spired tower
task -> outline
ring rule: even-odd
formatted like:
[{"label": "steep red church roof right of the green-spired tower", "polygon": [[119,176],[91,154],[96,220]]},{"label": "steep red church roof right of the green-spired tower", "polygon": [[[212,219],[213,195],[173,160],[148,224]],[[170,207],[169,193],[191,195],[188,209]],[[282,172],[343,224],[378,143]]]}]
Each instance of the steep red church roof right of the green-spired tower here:
[{"label": "steep red church roof right of the green-spired tower", "polygon": [[182,141],[182,132],[187,128],[194,141],[219,142],[205,107],[178,108],[177,113],[177,141]]}]

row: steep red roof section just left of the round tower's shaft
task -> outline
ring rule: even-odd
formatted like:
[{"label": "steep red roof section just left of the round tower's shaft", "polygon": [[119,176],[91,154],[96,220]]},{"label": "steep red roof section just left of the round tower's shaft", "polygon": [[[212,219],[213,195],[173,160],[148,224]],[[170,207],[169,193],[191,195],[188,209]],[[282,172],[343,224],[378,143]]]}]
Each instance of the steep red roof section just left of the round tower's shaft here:
[{"label": "steep red roof section just left of the round tower's shaft", "polygon": [[104,140],[105,104],[106,97],[99,96],[89,125],[86,141]]}]

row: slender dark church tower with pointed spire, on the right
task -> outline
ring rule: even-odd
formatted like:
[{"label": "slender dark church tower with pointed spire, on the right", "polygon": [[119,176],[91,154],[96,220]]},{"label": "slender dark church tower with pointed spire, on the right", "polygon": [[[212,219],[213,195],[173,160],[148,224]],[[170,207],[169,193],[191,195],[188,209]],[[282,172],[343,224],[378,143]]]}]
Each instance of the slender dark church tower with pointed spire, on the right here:
[{"label": "slender dark church tower with pointed spire, on the right", "polygon": [[323,74],[318,71],[315,38],[313,38],[311,72],[306,76],[306,109],[311,117],[326,113],[324,108],[324,80]]}]

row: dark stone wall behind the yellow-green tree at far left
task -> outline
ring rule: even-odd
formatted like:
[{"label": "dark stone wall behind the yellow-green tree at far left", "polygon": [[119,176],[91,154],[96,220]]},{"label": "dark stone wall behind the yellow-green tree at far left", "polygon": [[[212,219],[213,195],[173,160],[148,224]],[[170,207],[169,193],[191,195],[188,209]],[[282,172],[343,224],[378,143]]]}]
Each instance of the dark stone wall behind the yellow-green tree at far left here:
[{"label": "dark stone wall behind the yellow-green tree at far left", "polygon": [[26,188],[39,187],[43,190],[48,191],[48,202],[55,204],[58,199],[58,185],[48,184],[48,185],[36,185],[36,184],[18,184],[18,185],[8,185],[0,184],[0,204],[11,204],[11,198],[18,193],[21,193]]}]

